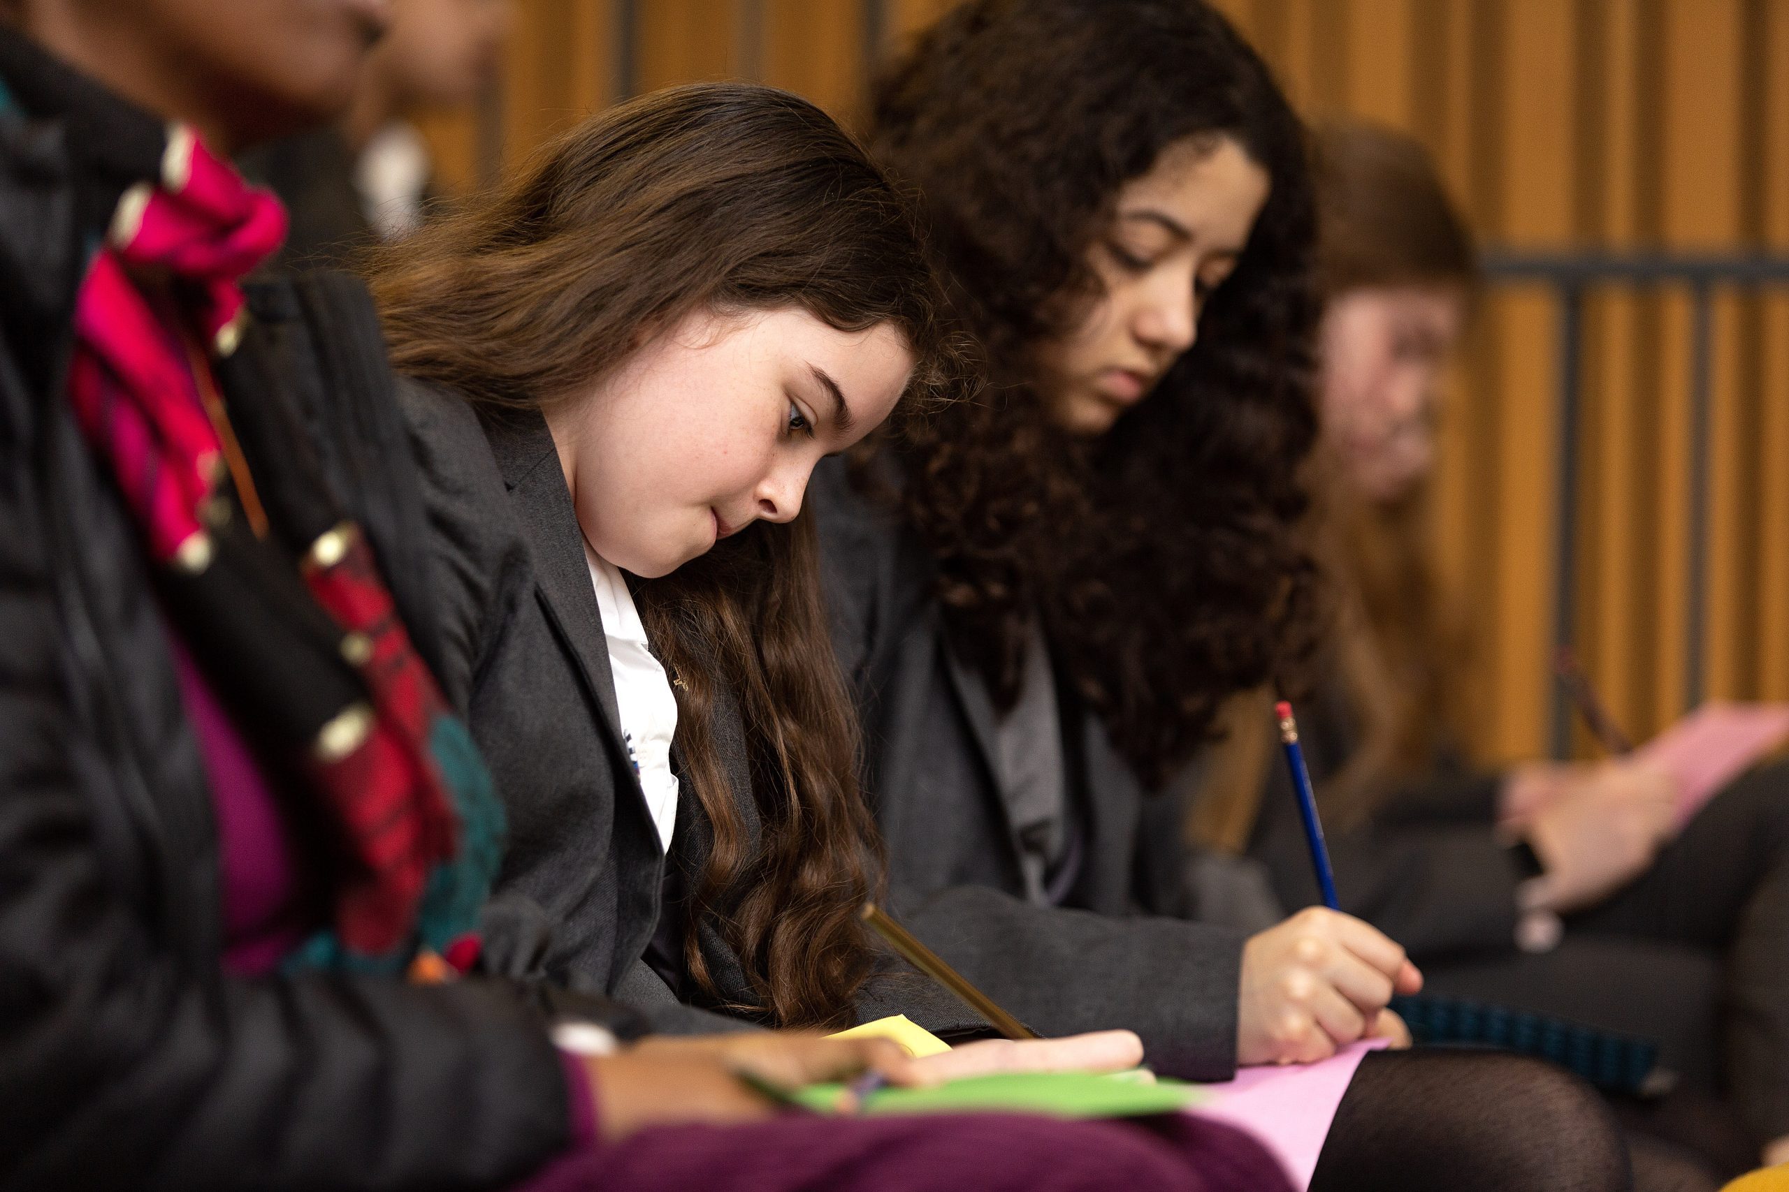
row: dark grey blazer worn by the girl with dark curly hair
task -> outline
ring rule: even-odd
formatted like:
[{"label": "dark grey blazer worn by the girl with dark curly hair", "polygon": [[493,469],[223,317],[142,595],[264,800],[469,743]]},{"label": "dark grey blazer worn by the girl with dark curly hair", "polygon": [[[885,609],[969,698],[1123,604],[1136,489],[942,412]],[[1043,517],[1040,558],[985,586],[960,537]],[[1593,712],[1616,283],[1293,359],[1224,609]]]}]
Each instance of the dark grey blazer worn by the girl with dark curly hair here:
[{"label": "dark grey blazer worn by the girl with dark curly hair", "polygon": [[1098,722],[1070,713],[1088,811],[1081,872],[1061,906],[1027,899],[991,761],[993,704],[945,643],[930,558],[841,459],[814,472],[809,502],[894,910],[1038,1031],[1131,1028],[1156,1070],[1227,1079],[1243,935],[1183,919],[1181,804],[1145,799]]}]

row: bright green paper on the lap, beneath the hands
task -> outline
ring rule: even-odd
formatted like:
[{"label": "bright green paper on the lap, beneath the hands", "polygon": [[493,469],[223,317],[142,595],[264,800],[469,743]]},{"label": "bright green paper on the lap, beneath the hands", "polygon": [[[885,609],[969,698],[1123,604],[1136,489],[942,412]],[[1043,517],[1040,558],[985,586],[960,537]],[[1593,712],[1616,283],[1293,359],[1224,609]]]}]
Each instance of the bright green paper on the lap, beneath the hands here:
[{"label": "bright green paper on the lap, beneath the hands", "polygon": [[[816,1113],[837,1113],[844,1085],[809,1085],[793,1094]],[[1131,1072],[1013,1072],[971,1076],[932,1088],[878,1088],[862,1112],[880,1113],[1047,1113],[1050,1117],[1145,1117],[1177,1113],[1206,1094],[1175,1079],[1140,1081]]]}]

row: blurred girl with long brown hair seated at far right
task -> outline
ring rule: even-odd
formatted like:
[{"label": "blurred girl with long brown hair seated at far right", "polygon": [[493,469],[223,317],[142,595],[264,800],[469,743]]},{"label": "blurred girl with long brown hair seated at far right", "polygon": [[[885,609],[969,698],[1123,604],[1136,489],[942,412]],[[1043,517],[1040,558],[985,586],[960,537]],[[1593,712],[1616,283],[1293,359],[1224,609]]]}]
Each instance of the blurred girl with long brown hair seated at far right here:
[{"label": "blurred girl with long brown hair seated at far right", "polygon": [[[1315,524],[1338,617],[1301,729],[1344,906],[1440,990],[1660,1040],[1683,1088],[1723,1092],[1751,1133],[1701,1131],[1710,1165],[1750,1165],[1760,1144],[1789,1158],[1789,768],[1741,777],[1680,829],[1671,781],[1632,760],[1465,760],[1472,643],[1435,574],[1431,490],[1472,236],[1408,136],[1327,127],[1317,164]],[[1195,822],[1295,906],[1311,874],[1268,763],[1259,735],[1229,742]]]}]

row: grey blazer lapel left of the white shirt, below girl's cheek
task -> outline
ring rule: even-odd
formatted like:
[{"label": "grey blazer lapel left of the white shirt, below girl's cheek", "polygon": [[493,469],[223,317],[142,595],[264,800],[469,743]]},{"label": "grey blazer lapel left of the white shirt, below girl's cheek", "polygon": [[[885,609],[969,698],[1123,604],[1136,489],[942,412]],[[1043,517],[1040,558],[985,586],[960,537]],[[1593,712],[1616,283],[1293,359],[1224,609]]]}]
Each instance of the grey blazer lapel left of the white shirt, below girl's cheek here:
[{"label": "grey blazer lapel left of the white shirt, below girl's cheek", "polygon": [[[621,708],[615,704],[615,676],[608,667],[608,638],[603,613],[590,584],[590,567],[583,558],[583,531],[565,488],[553,434],[538,413],[504,415],[485,422],[485,436],[510,490],[522,533],[531,547],[535,579],[547,617],[565,647],[578,659],[585,683],[601,709],[608,745],[633,770]],[[635,783],[639,786],[639,783]],[[640,795],[644,806],[644,795]]]}]

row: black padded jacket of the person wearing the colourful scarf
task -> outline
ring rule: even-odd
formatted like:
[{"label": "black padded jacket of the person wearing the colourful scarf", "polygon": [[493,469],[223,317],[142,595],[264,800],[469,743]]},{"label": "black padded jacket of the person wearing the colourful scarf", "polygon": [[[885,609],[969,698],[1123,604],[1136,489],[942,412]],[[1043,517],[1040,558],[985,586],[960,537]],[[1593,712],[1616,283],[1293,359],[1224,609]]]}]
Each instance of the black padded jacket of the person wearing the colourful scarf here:
[{"label": "black padded jacket of the person wearing the colourful scarf", "polygon": [[[224,972],[200,751],[131,515],[63,395],[84,243],[163,125],[5,30],[0,77],[36,113],[0,114],[0,1187],[508,1187],[569,1135],[513,986]],[[95,116],[138,125],[147,168]],[[431,654],[365,291],[318,277],[250,306],[265,400],[290,402]]]}]

